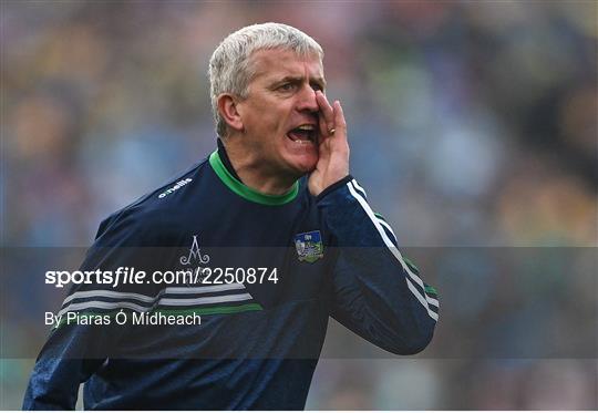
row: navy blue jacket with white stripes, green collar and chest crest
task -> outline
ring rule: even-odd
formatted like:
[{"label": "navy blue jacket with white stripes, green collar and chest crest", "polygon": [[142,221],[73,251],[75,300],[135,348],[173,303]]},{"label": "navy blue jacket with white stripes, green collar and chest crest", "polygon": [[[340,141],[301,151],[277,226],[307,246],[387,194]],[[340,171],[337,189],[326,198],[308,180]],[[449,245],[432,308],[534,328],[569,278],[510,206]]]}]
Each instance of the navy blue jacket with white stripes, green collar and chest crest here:
[{"label": "navy blue jacket with white stripes, green collar and chest crest", "polygon": [[[355,179],[313,197],[303,178],[267,196],[221,146],[100,225],[81,269],[118,267],[146,281],[72,286],[59,314],[101,322],[52,330],[23,409],[74,409],[84,382],[85,409],[299,410],[329,316],[396,354],[424,349],[437,321],[434,289]],[[156,270],[194,276],[173,283]],[[133,313],[200,323],[135,324]]]}]

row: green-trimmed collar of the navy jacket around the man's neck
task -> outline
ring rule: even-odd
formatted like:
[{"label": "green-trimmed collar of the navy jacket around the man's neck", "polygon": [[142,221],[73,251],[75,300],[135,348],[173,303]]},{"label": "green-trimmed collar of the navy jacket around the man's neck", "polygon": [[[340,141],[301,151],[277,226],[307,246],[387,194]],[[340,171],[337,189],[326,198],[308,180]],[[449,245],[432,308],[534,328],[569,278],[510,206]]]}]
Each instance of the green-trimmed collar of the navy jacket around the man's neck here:
[{"label": "green-trimmed collar of the navy jacket around the man's neck", "polygon": [[223,159],[220,159],[220,155],[218,155],[218,151],[215,151],[212,153],[212,155],[209,155],[209,164],[223,184],[228,187],[228,189],[252,203],[262,205],[285,205],[297,198],[297,194],[299,194],[298,180],[292,185],[292,188],[288,193],[282,195],[266,195],[251,189],[247,185],[244,185],[241,182],[236,179],[233,174],[228,172],[226,166],[223,164]]}]

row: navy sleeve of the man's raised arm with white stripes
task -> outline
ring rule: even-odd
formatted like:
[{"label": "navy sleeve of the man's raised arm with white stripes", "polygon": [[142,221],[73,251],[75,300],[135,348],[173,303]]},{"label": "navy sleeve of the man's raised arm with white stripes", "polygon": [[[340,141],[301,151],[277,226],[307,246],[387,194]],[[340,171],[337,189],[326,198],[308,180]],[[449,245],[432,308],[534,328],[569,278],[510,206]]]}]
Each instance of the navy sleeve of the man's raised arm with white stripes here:
[{"label": "navy sleeve of the man's raised arm with white stripes", "polygon": [[392,353],[422,351],[439,320],[434,288],[401,255],[391,227],[351,176],[327,188],[317,203],[338,247],[331,316]]}]

